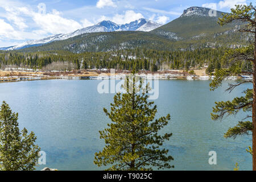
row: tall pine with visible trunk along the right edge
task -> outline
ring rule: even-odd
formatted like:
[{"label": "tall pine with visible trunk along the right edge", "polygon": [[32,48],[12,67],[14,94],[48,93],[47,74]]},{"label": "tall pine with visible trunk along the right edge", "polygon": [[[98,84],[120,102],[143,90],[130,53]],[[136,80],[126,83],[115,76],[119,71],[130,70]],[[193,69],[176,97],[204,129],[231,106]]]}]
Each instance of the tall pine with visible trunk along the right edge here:
[{"label": "tall pine with visible trunk along the right edge", "polygon": [[[238,27],[238,31],[246,32],[256,38],[256,7],[250,5],[236,5],[236,9],[231,9],[230,14],[223,15],[219,19],[218,23],[221,26],[232,22],[242,22]],[[232,92],[237,86],[245,83],[252,83],[253,89],[245,90],[244,96],[236,97],[233,101],[221,101],[216,102],[216,106],[213,108],[212,119],[222,119],[224,115],[236,115],[239,111],[250,111],[252,114],[247,118],[251,118],[252,121],[240,121],[237,126],[230,128],[224,137],[236,138],[237,135],[253,134],[253,170],[256,171],[256,39],[252,44],[247,47],[232,49],[226,51],[223,60],[228,63],[229,68],[217,69],[214,80],[210,84],[212,90],[218,88],[222,84],[222,81],[229,76],[237,76],[242,73],[241,65],[253,64],[251,67],[243,68],[243,73],[253,75],[253,80],[238,81],[237,84],[230,84],[227,89]],[[222,60],[222,62],[224,62]],[[246,119],[247,119],[246,118]]]}]

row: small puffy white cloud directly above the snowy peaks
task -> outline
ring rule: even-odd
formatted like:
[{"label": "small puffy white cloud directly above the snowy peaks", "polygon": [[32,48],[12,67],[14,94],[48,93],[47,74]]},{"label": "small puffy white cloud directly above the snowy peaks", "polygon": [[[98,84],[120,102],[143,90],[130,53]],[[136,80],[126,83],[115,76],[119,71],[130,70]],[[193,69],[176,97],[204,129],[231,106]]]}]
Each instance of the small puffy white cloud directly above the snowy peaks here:
[{"label": "small puffy white cloud directly above the snowy peaks", "polygon": [[135,13],[133,10],[127,10],[125,11],[125,14],[115,14],[110,20],[117,24],[124,24],[133,22],[140,18],[144,18],[141,13]]}]

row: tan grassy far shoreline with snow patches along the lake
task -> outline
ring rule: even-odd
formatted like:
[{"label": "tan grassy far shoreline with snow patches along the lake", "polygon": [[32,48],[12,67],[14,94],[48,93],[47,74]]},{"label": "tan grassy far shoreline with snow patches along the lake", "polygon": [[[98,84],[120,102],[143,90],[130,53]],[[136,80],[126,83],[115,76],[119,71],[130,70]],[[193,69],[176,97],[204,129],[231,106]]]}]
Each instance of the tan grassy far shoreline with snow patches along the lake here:
[{"label": "tan grassy far shoreline with snow patches along the lake", "polygon": [[[160,80],[213,80],[214,76],[206,75],[204,69],[197,69],[195,75],[188,75],[183,70],[168,70],[159,72],[139,72],[138,76],[146,79],[160,79]],[[122,80],[129,75],[128,71],[117,71],[111,74],[96,69],[88,69],[83,71],[69,71],[69,72],[43,72],[43,71],[1,71],[0,82],[17,82],[17,81],[32,81],[32,80]],[[252,79],[249,75],[231,76],[226,80],[237,79]]]}]

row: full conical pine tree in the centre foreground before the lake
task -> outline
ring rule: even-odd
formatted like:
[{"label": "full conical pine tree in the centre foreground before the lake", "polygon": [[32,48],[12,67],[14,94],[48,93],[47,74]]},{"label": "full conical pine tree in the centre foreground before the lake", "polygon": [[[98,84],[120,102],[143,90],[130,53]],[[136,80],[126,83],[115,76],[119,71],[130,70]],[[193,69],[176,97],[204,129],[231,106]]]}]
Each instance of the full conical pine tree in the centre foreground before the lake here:
[{"label": "full conical pine tree in the centre foreground before the lake", "polygon": [[169,164],[170,160],[174,160],[172,156],[166,156],[168,150],[160,148],[172,134],[158,135],[158,131],[168,124],[170,114],[154,120],[156,106],[152,106],[154,102],[148,102],[146,92],[138,93],[142,89],[138,80],[127,78],[124,85],[127,93],[114,96],[110,112],[104,108],[113,123],[100,131],[100,138],[105,139],[106,146],[96,152],[94,163],[99,167],[111,166],[109,170],[174,167]]}]

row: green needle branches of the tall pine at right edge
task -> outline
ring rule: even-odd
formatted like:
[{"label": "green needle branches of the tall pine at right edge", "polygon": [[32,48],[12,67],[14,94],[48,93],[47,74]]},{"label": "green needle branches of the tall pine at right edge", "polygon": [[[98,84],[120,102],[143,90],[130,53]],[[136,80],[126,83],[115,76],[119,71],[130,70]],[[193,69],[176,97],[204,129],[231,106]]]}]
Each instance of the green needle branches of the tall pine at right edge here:
[{"label": "green needle branches of the tall pine at right edge", "polygon": [[[243,32],[250,32],[250,28],[255,25],[251,24],[250,18],[254,19],[255,11],[252,5],[249,6],[236,6],[236,9],[232,9],[231,14],[223,15],[219,19],[218,23],[224,26],[228,23],[234,21],[249,22],[247,26],[243,24],[238,30]],[[222,63],[225,63],[225,67],[221,69],[216,69],[214,73],[214,80],[210,83],[211,90],[214,90],[222,85],[222,81],[229,76],[238,76],[241,73],[253,74],[252,65],[254,61],[254,46],[249,45],[246,47],[241,47],[237,49],[230,49],[226,51],[225,55],[222,57]],[[238,81],[236,84],[229,84],[227,91],[232,92],[237,86],[245,83],[253,83],[252,80]],[[253,106],[253,89],[247,89],[244,92],[244,96],[236,97],[233,101],[221,101],[216,102],[216,106],[213,107],[212,119],[222,119],[225,115],[236,115],[239,111],[252,112]],[[247,118],[251,118],[248,115]],[[236,138],[237,135],[251,134],[253,130],[253,124],[251,121],[240,121],[238,125],[230,128],[224,137]]]}]

